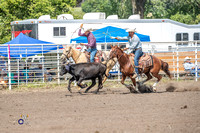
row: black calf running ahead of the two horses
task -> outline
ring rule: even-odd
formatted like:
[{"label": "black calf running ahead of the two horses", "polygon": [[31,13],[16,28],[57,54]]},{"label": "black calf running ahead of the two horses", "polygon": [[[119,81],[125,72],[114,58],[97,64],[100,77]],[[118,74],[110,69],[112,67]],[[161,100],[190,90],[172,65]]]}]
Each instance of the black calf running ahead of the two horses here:
[{"label": "black calf running ahead of the two horses", "polygon": [[96,78],[99,80],[98,89],[103,88],[102,78],[106,71],[106,65],[102,63],[78,63],[78,64],[67,64],[61,66],[60,75],[64,75],[66,73],[70,73],[73,77],[69,80],[68,90],[71,92],[70,84],[76,80],[77,85],[81,88],[85,88],[84,85],[81,84],[83,80],[92,80],[91,86],[89,86],[85,93],[87,93],[93,86],[96,84]]}]

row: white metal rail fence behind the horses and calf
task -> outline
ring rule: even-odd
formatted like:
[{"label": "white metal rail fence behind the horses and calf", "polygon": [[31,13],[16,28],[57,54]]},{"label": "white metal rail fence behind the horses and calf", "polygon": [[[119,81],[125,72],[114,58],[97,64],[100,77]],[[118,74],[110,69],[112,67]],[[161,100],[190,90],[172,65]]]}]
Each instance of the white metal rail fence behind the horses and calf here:
[{"label": "white metal rail fence behind the horses and calf", "polygon": [[[188,44],[179,45],[179,44]],[[162,59],[165,62],[168,62],[169,69],[173,74],[174,79],[179,80],[185,74],[185,70],[183,67],[185,57],[190,57],[191,62],[195,64],[195,69],[193,70],[192,79],[198,81],[199,76],[199,67],[200,67],[200,41],[192,41],[192,42],[143,42],[143,51],[156,57]],[[10,44],[9,47],[12,46],[20,46],[20,49],[16,51],[16,54],[19,54],[19,51],[26,49],[30,44]],[[36,48],[41,47],[42,45],[31,44]],[[70,75],[60,76],[60,66],[62,62],[60,61],[60,56],[62,55],[63,49],[59,49],[60,46],[65,46],[67,44],[45,44],[49,47],[55,47],[56,49],[51,51],[41,50],[37,53],[36,50],[32,50],[34,56],[31,55],[30,50],[29,53],[25,52],[25,56],[19,55],[18,58],[15,56],[9,56],[10,49],[7,49],[8,56],[1,56],[0,58],[0,85],[6,85],[10,90],[13,86],[20,86],[22,84],[41,84],[41,83],[56,83],[62,84],[66,83],[66,79],[69,78]],[[70,44],[73,47],[81,47],[79,44]],[[110,50],[110,45],[122,45],[126,47],[126,43],[104,43],[98,44],[98,48],[102,50]],[[160,45],[163,45],[163,47]],[[172,45],[172,46],[171,46]],[[2,53],[0,45],[0,54]],[[170,46],[170,47],[169,47]],[[5,47],[5,45],[4,45]],[[80,50],[83,50],[81,47]],[[27,50],[26,50],[27,51]],[[37,54],[36,54],[37,53]],[[2,55],[2,54],[1,54]],[[114,80],[120,81],[120,71],[119,64],[117,63],[113,69],[110,71],[112,76],[117,76]],[[161,74],[163,74],[161,72]],[[113,81],[113,79],[108,79],[108,81]]]}]

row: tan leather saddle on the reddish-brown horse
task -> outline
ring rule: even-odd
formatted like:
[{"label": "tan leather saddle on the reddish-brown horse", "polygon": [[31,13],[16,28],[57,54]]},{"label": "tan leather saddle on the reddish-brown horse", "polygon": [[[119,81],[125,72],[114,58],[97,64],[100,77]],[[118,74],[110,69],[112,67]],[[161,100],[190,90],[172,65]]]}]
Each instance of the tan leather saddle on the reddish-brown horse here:
[{"label": "tan leather saddle on the reddish-brown horse", "polygon": [[[134,57],[135,57],[135,55],[131,53],[130,54],[131,63],[133,62]],[[133,63],[132,63],[132,65],[133,65]],[[145,68],[145,67],[150,67],[150,66],[153,66],[153,59],[152,59],[151,55],[144,53],[139,59],[139,66],[136,66],[136,67]]]}]

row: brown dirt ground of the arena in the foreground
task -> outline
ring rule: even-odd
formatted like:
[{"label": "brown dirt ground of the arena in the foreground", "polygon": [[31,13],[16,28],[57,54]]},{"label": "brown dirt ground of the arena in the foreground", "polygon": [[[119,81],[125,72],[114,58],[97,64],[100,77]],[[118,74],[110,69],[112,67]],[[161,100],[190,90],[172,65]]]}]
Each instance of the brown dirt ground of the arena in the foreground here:
[{"label": "brown dirt ground of the arena in the foreground", "polygon": [[97,95],[91,93],[96,86],[82,95],[75,87],[73,94],[51,87],[0,90],[0,133],[199,133],[200,83],[157,88],[157,93],[131,94],[107,83]]}]

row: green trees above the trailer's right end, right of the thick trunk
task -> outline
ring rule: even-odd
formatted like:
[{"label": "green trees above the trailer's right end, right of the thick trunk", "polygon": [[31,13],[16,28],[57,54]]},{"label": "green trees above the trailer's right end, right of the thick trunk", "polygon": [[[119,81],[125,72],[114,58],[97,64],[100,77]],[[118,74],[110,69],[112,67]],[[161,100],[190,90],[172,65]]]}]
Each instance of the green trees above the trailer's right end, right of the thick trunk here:
[{"label": "green trees above the trailer's right end, right of the thick trunk", "polygon": [[[170,18],[186,24],[199,23],[200,0],[149,0],[145,18]],[[187,20],[184,20],[184,19]]]}]

